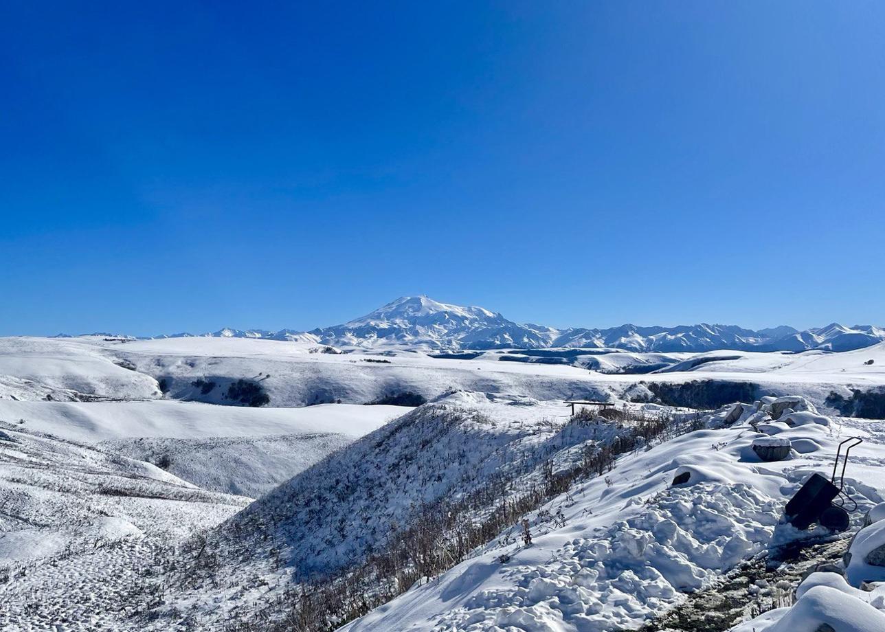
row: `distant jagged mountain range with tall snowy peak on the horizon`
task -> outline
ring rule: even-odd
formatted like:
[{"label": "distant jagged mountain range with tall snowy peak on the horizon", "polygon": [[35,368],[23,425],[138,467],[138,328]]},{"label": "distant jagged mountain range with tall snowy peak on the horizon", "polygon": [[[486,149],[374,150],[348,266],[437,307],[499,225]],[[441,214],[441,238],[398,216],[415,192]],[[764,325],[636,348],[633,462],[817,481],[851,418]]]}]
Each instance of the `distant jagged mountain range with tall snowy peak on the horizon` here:
[{"label": "distant jagged mountain range with tall snowy peak on the horizon", "polygon": [[885,329],[872,325],[845,327],[838,323],[804,331],[786,325],[754,331],[735,325],[705,323],[677,327],[637,327],[628,324],[608,329],[557,329],[531,323],[520,324],[482,307],[439,303],[424,296],[400,297],[362,318],[312,331],[224,328],[204,335],[289,340],[335,347],[424,351],[550,347],[661,352],[851,351],[885,341]]}]

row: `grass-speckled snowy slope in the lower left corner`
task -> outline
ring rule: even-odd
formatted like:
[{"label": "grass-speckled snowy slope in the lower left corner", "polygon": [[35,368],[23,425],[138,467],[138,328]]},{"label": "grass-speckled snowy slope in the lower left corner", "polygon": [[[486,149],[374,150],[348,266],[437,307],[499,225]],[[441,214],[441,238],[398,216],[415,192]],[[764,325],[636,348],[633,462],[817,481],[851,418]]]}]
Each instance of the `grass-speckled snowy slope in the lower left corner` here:
[{"label": "grass-speckled snowy slope in the lower left corner", "polygon": [[0,629],[128,628],[160,594],[158,554],[247,502],[0,424]]}]

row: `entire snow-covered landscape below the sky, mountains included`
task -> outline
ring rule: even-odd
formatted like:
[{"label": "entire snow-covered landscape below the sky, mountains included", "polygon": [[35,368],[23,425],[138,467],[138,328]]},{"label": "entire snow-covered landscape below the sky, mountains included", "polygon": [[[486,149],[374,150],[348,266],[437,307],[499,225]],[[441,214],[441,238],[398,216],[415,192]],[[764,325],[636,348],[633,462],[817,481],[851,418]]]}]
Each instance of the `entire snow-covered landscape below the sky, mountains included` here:
[{"label": "entire snow-covered landscape below the sky, mountains included", "polygon": [[0,338],[0,629],[885,632],[885,330]]}]

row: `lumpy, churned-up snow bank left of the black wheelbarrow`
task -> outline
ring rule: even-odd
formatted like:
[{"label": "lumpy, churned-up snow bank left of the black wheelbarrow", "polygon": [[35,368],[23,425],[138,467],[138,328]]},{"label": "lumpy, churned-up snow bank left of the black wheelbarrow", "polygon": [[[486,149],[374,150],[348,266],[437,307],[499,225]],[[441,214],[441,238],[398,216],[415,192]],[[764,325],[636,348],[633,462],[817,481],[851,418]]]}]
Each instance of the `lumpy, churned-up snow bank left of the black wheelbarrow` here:
[{"label": "lumpy, churned-up snow bank left of the black wheelbarrow", "polygon": [[601,535],[565,543],[543,566],[514,566],[504,574],[518,578],[513,588],[480,592],[444,615],[442,629],[550,629],[546,622],[566,620],[582,632],[633,628],[758,552],[780,513],[743,483],[671,489]]}]

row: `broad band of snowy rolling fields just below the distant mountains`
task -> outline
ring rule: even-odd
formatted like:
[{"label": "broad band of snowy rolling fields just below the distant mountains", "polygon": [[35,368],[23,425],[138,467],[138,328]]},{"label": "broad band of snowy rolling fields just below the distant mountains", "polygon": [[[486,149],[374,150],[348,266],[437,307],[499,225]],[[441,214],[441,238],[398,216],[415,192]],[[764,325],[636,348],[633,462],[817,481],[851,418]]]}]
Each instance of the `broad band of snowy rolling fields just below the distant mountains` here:
[{"label": "broad band of snowy rolling fields just below the distant mountains", "polygon": [[[591,359],[591,368],[504,361],[519,356],[506,350],[460,359],[434,358],[422,351],[323,349],[313,343],[249,338],[3,338],[0,366],[16,373],[4,375],[0,370],[0,400],[164,398],[231,404],[236,403],[228,398],[231,385],[240,380],[254,384],[273,407],[366,404],[404,393],[433,399],[454,390],[517,393],[539,400],[601,399],[630,398],[641,383],[715,380],[750,384],[756,397],[799,394],[826,407],[833,392],[850,397],[852,389],[885,387],[885,343],[841,353],[709,351],[665,356],[595,350],[578,360],[587,364]],[[665,357],[666,366],[645,373]],[[96,377],[84,366],[89,371],[95,367]]]}]

